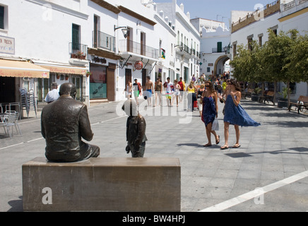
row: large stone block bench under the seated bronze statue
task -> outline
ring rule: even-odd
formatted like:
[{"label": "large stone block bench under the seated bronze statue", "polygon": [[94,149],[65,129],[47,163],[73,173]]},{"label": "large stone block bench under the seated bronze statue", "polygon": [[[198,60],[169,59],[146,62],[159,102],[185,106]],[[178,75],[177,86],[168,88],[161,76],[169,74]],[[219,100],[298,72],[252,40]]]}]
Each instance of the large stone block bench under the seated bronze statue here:
[{"label": "large stone block bench under the seated bronze statue", "polygon": [[178,158],[97,157],[23,164],[24,211],[181,210]]}]

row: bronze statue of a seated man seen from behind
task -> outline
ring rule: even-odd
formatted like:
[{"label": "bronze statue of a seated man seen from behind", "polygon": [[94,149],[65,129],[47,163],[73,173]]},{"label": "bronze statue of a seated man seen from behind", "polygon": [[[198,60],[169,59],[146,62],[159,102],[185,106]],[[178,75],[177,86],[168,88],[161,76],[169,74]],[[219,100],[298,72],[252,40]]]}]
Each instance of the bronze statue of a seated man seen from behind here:
[{"label": "bronze statue of a seated man seen from behind", "polygon": [[42,136],[45,156],[52,162],[77,162],[100,155],[100,148],[81,141],[91,141],[93,132],[87,105],[75,100],[76,86],[64,83],[59,99],[42,109]]}]

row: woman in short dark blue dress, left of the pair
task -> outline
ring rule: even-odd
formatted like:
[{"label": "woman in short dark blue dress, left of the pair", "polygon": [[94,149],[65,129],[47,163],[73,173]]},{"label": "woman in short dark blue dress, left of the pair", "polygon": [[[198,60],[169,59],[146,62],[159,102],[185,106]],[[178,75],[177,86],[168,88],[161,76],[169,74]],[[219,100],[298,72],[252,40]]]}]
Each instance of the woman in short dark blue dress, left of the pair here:
[{"label": "woman in short dark blue dress, left of the pair", "polygon": [[211,133],[215,136],[216,144],[219,143],[220,137],[212,130],[213,121],[218,117],[218,97],[210,81],[206,81],[206,90],[203,91],[201,98],[203,103],[202,121],[206,125],[206,136],[208,137],[208,143],[203,146],[211,147]]}]

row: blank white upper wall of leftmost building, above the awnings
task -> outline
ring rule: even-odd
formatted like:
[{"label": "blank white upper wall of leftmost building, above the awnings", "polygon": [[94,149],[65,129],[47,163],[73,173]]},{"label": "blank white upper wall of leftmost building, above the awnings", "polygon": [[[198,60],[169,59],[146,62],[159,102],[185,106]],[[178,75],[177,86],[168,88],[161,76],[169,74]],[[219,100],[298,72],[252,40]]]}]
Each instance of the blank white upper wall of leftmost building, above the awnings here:
[{"label": "blank white upper wall of leftmost building, above the awnings", "polygon": [[[35,2],[37,4],[21,0],[1,1],[1,4],[8,5],[9,20],[7,32],[0,34],[15,38],[17,57],[68,64],[72,23],[81,25],[82,32],[87,28],[88,16],[48,4],[47,1]],[[90,35],[82,32],[81,43],[87,43],[88,40],[91,40]]]}]

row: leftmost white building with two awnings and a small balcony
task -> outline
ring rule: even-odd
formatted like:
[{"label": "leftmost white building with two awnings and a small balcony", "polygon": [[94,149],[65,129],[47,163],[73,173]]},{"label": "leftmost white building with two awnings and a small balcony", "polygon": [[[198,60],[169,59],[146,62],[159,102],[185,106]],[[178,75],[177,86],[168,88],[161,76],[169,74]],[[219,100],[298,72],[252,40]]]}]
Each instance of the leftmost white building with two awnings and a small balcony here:
[{"label": "leftmost white building with two awnings and a small balcony", "polygon": [[[86,46],[80,48],[80,58],[72,59],[72,30],[88,28],[85,1],[8,1],[0,3],[1,40],[1,87],[0,102],[19,102],[19,88],[33,90],[38,101],[44,100],[52,82],[71,81],[76,84],[78,100],[85,98],[85,73],[88,71]],[[89,35],[79,35],[78,43],[88,43]],[[8,51],[4,50],[8,49]],[[10,51],[11,49],[12,51]],[[9,66],[5,59],[13,61]],[[18,63],[23,60],[24,63]],[[28,63],[26,65],[22,65]],[[37,65],[37,69],[31,67]],[[39,67],[47,70],[37,76]],[[15,71],[15,72],[14,72]],[[19,71],[19,73],[16,73]],[[66,80],[68,79],[68,80]]]}]

